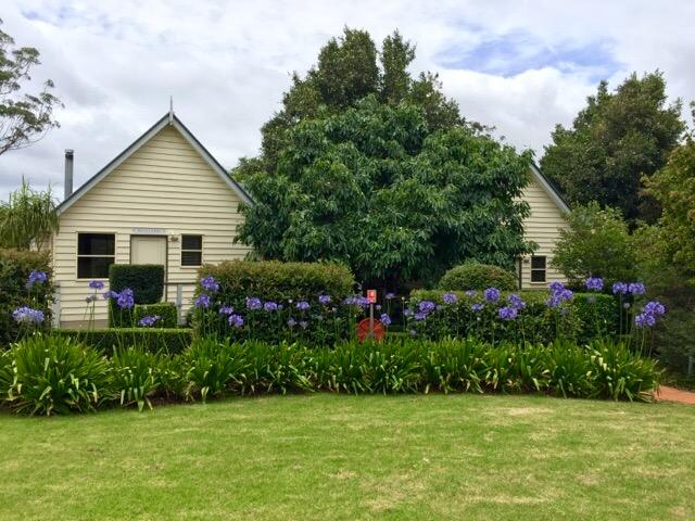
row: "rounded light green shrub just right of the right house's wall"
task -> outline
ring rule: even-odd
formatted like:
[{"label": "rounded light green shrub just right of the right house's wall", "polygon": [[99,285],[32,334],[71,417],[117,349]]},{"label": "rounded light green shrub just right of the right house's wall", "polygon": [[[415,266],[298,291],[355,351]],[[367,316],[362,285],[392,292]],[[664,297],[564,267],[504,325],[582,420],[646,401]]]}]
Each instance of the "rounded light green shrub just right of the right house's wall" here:
[{"label": "rounded light green shrub just right of the right house's wall", "polygon": [[595,202],[567,215],[551,263],[573,284],[587,277],[602,277],[607,287],[636,278],[636,251],[620,211]]}]

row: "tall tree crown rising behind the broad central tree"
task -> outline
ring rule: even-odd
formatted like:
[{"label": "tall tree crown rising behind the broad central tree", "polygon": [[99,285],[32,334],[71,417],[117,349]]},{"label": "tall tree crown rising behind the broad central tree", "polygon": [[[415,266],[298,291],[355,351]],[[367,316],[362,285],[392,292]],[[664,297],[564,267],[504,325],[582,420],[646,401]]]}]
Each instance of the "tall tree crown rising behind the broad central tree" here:
[{"label": "tall tree crown rising behind the broad central tree", "polygon": [[[408,67],[415,47],[399,31],[384,38],[377,49],[369,33],[345,28],[318,53],[318,60],[303,77],[292,76],[292,86],[282,97],[282,107],[261,129],[263,140],[256,161],[240,164],[236,174],[265,169],[273,174],[280,151],[288,144],[288,130],[304,119],[344,111],[374,94],[381,102],[397,105],[407,101],[425,111],[430,130],[467,124],[456,102],[441,91],[435,74],[421,73],[413,78]],[[478,124],[472,127],[481,129]]]}]

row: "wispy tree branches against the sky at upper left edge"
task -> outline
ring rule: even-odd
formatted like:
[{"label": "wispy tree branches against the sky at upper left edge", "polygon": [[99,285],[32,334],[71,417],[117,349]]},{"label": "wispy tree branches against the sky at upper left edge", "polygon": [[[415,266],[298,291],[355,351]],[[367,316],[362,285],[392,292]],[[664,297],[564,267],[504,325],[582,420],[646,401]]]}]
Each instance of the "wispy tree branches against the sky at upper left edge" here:
[{"label": "wispy tree branches against the sky at upper left edge", "polygon": [[28,147],[60,126],[53,109],[62,103],[51,93],[53,81],[47,80],[37,94],[25,91],[29,71],[39,64],[39,51],[15,47],[14,39],[0,30],[0,155]]}]

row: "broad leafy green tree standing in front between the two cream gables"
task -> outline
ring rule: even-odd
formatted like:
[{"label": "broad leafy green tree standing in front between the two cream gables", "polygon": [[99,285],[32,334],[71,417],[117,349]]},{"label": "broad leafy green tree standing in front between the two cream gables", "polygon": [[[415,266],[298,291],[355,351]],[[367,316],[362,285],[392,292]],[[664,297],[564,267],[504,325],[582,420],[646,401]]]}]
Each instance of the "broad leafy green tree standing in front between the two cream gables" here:
[{"label": "broad leafy green tree standing in front between the two cream gables", "polygon": [[416,104],[354,105],[302,119],[276,171],[247,176],[241,241],[267,258],[341,260],[362,281],[432,279],[464,259],[510,266],[531,250],[529,153],[462,125],[432,131]]}]

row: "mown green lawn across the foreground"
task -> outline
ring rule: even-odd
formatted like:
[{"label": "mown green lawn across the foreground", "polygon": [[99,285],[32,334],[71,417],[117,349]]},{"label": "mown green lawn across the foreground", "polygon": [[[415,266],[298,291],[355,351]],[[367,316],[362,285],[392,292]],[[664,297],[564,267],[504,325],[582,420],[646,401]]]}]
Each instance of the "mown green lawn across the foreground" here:
[{"label": "mown green lawn across the foreground", "polygon": [[695,519],[695,407],[271,396],[0,414],[0,519]]}]

